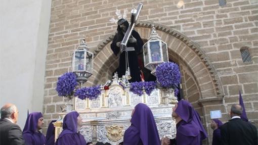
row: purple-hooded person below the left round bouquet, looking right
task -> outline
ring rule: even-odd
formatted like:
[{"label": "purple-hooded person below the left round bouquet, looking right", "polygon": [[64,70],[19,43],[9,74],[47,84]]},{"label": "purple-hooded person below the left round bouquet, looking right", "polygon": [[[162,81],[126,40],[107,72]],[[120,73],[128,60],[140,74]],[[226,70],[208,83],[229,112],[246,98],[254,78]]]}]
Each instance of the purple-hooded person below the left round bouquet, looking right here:
[{"label": "purple-hooded person below the left round bouquet, looking right", "polygon": [[81,126],[82,120],[78,112],[66,114],[63,120],[63,131],[58,136],[56,145],[85,145],[87,142],[79,132]]}]

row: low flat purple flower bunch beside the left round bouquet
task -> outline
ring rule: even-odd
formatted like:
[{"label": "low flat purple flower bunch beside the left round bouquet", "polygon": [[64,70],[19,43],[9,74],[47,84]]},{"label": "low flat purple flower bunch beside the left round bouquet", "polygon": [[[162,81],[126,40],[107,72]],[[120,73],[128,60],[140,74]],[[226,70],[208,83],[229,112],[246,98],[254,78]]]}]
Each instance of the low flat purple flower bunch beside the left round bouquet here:
[{"label": "low flat purple flower bunch beside the left round bouquet", "polygon": [[81,100],[85,98],[94,100],[98,98],[100,93],[100,86],[82,87],[75,91],[74,96],[78,96]]}]

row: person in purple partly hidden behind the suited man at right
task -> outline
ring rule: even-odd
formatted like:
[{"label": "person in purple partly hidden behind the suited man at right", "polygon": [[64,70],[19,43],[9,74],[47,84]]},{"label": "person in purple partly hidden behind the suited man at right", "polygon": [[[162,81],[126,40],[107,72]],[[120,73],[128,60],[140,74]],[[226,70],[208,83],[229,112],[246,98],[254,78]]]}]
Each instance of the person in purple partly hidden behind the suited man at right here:
[{"label": "person in purple partly hidden behind the suited man at right", "polygon": [[219,128],[223,123],[219,119],[212,119],[210,127],[213,129],[212,145],[221,144],[221,129]]}]

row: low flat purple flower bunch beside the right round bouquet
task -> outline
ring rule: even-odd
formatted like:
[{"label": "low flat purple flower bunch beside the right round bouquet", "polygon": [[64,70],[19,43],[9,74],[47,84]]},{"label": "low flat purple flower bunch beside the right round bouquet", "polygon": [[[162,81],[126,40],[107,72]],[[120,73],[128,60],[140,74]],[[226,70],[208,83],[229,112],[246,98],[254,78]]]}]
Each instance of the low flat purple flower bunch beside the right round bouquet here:
[{"label": "low flat purple flower bunch beside the right round bouquet", "polygon": [[154,81],[132,82],[130,91],[141,96],[143,94],[143,90],[145,90],[145,92],[150,95],[155,88],[156,82]]}]

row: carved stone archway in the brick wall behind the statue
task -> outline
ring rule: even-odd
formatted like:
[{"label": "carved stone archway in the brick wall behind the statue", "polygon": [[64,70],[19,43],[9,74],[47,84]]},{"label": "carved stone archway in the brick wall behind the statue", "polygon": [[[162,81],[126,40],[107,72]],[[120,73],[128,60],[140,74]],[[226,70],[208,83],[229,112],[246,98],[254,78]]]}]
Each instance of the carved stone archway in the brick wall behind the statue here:
[{"label": "carved stone archway in the brick wall behind the statue", "polygon": [[[151,25],[152,23],[149,22],[137,23],[136,30],[143,39],[149,38]],[[216,70],[201,47],[186,35],[160,24],[155,24],[155,27],[161,39],[167,43],[169,59],[180,65],[185,83],[183,89],[189,89],[188,92],[184,92],[189,97],[187,100],[194,103],[195,108],[200,109],[205,127],[208,132],[211,132],[208,128],[209,105],[222,106],[224,96],[222,83]],[[107,79],[112,78],[112,73],[118,67],[118,57],[115,57],[110,49],[114,34],[115,32],[103,40],[95,50],[94,74],[89,79],[89,85],[103,84]],[[187,86],[188,82],[192,85]]]}]

